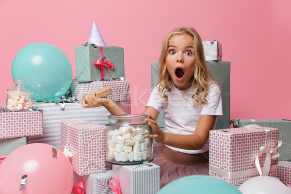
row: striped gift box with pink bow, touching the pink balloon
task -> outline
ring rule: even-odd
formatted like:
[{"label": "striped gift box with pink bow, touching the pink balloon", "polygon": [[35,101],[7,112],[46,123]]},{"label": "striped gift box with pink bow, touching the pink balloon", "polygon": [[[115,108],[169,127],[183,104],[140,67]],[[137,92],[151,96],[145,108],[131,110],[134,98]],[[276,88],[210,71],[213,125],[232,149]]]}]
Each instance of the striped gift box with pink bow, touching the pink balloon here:
[{"label": "striped gift box with pink bow, touching the pink balloon", "polygon": [[[112,179],[112,170],[104,173],[79,176],[74,172],[74,185],[82,181],[85,185],[85,194],[113,194],[109,186]],[[72,193],[73,194],[73,193]]]}]

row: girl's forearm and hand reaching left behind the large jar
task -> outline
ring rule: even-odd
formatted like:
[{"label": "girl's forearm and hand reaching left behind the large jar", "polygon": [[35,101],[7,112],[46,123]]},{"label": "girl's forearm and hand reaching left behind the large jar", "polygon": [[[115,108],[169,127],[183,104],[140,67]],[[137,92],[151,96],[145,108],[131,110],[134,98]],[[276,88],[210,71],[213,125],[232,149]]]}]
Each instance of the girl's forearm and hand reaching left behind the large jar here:
[{"label": "girl's forearm and hand reaching left behind the large jar", "polygon": [[104,106],[109,113],[112,115],[116,114],[126,114],[115,102],[113,102],[111,99],[107,97],[97,98],[95,97],[94,92],[90,92],[89,94],[92,95],[86,95],[85,98],[83,98],[81,105],[85,108],[94,108],[99,106]]}]

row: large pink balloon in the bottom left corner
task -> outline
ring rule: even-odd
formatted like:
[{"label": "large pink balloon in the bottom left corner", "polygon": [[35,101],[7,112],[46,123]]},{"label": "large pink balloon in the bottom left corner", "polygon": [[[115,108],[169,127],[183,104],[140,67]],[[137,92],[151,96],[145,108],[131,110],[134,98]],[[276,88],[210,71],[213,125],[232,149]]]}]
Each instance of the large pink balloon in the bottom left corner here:
[{"label": "large pink balloon in the bottom left corner", "polygon": [[[53,149],[57,158],[53,158]],[[23,175],[27,182],[19,191]],[[19,147],[0,164],[0,194],[70,194],[73,179],[64,153],[48,144]]]}]

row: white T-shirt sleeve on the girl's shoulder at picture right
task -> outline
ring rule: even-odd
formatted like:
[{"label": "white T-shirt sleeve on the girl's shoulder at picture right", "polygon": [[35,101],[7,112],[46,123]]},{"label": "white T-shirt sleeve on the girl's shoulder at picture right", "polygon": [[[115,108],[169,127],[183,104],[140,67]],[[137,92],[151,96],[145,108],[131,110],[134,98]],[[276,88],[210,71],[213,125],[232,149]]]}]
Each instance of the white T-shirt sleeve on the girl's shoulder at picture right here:
[{"label": "white T-shirt sleeve on the girl's shoulder at picture right", "polygon": [[221,90],[216,84],[210,84],[206,99],[207,103],[203,105],[201,114],[222,116]]}]

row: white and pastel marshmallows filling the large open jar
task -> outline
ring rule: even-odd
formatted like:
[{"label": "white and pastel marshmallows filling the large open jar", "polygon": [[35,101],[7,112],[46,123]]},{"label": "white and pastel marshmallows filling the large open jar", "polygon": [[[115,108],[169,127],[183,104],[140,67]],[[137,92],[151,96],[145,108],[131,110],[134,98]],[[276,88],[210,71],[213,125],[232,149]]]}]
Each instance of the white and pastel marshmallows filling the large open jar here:
[{"label": "white and pastel marshmallows filling the large open jar", "polygon": [[108,132],[109,162],[142,161],[151,157],[148,130],[139,127],[120,127]]}]

